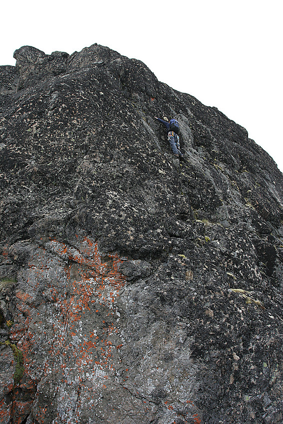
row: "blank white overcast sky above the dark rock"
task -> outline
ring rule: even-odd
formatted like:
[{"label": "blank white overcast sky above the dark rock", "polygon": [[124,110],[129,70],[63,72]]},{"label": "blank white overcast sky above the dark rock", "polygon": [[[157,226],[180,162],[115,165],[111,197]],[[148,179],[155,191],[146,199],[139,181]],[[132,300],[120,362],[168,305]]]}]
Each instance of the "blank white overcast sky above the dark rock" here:
[{"label": "blank white overcast sky above the dark rock", "polygon": [[245,127],[283,171],[282,0],[14,0],[0,6],[0,65],[31,45],[97,42]]}]

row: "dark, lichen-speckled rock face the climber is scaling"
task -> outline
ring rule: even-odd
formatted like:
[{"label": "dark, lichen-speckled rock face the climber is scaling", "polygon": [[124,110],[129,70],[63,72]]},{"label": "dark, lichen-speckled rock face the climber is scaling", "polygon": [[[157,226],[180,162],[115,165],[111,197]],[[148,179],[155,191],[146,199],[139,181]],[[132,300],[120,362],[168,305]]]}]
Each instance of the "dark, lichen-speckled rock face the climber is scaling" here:
[{"label": "dark, lichen-speckled rock face the climber is scaling", "polygon": [[[283,422],[283,175],[94,44],[0,67],[0,418]],[[181,126],[180,164],[154,119]]]}]

